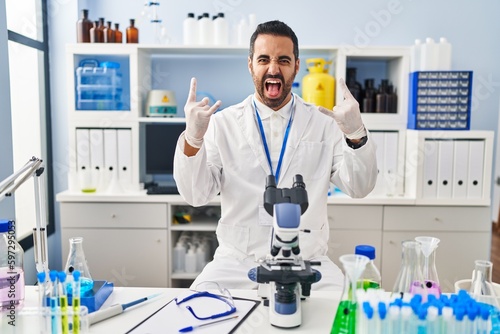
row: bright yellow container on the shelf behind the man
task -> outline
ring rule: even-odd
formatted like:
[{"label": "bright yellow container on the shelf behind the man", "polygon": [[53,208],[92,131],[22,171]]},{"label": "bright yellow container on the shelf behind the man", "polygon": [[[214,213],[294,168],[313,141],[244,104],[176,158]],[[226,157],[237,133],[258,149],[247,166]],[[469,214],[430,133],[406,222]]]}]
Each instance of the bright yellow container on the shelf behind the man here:
[{"label": "bright yellow container on the shelf behind the man", "polygon": [[302,79],[304,101],[330,110],[335,104],[335,78],[328,74],[328,65],[331,63],[323,58],[306,59],[309,74]]}]

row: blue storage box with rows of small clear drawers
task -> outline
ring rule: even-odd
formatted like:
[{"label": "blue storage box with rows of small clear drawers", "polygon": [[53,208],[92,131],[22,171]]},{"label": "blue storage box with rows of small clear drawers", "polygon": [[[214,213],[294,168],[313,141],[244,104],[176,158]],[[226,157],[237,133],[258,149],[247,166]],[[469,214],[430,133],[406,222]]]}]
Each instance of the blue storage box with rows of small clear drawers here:
[{"label": "blue storage box with rows of small clear drawers", "polygon": [[410,73],[408,129],[469,130],[472,71]]}]

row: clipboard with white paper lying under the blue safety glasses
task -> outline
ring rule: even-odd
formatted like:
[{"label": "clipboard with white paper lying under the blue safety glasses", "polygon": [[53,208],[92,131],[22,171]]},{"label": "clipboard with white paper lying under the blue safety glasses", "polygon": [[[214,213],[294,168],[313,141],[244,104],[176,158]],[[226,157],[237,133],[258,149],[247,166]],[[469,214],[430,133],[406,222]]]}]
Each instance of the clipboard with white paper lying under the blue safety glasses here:
[{"label": "clipboard with white paper lying under the blue safety glasses", "polygon": [[[187,292],[187,294],[192,293],[193,291]],[[177,298],[182,297],[184,296],[181,295]],[[239,297],[233,297],[233,300],[236,306],[236,312],[227,317],[238,315],[238,318],[196,328],[193,330],[193,334],[232,334],[261,303],[259,300]],[[196,301],[194,304],[191,304],[191,306],[195,310],[201,310],[201,312],[205,310],[210,311],[211,314],[215,314],[219,312],[217,310],[218,307],[220,308],[221,306],[224,306],[222,304],[223,303],[220,303],[220,301],[218,302],[215,299],[211,300],[211,298],[200,298],[200,300]],[[196,326],[214,320],[219,319],[198,320],[193,317],[193,315],[186,309],[185,305],[177,305],[174,299],[172,299],[168,303],[160,307],[153,314],[148,316],[146,319],[142,320],[128,332],[126,332],[126,334],[179,333],[179,329],[181,328]]]}]

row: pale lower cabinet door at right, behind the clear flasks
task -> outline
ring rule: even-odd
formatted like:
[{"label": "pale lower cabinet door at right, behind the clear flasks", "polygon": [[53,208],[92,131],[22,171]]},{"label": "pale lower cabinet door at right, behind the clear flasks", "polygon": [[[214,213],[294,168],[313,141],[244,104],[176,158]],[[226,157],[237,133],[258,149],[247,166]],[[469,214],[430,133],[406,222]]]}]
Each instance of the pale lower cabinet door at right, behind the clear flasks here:
[{"label": "pale lower cabinet door at right, behind the clear flasks", "polygon": [[384,232],[382,244],[382,287],[392,291],[401,268],[401,242],[428,235],[440,239],[436,269],[443,292],[454,292],[454,283],[471,278],[475,260],[490,258],[491,235],[487,232]]}]

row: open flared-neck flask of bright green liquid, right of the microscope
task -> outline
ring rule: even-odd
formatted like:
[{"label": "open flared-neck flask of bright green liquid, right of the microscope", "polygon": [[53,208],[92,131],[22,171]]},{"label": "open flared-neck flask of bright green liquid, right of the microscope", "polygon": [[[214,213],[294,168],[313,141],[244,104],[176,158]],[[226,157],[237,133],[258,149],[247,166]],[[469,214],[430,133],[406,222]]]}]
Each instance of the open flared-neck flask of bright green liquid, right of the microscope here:
[{"label": "open flared-neck flask of bright green liquid, right of the microscope", "polygon": [[352,334],[356,331],[356,286],[370,259],[364,255],[346,254],[339,260],[344,267],[344,289],[331,334]]}]

